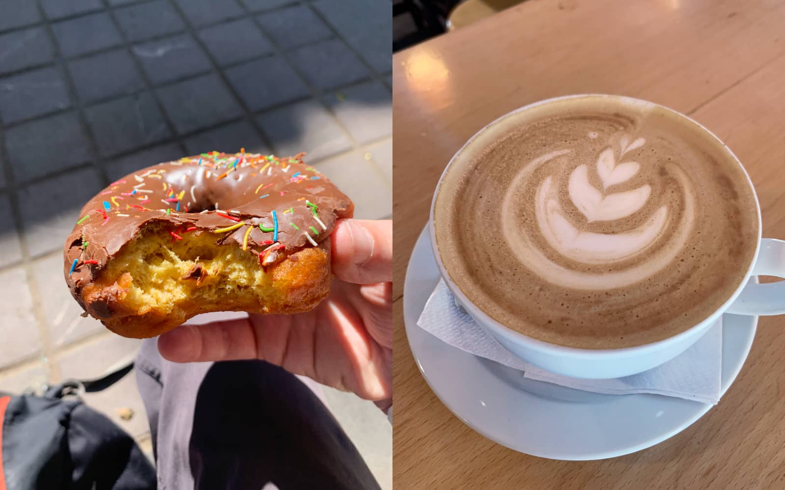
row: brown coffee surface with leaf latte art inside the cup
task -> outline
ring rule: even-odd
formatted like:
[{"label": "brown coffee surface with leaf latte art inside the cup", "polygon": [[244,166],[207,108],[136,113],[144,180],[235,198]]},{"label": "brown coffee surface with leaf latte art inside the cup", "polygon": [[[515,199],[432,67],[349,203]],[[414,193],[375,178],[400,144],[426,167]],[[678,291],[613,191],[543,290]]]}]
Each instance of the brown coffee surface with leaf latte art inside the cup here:
[{"label": "brown coffee surface with leaf latte art inside the cup", "polygon": [[754,191],[721,143],[662,107],[602,96],[511,114],[467,143],[433,223],[477,307],[589,349],[707,318],[743,281],[759,234]]}]

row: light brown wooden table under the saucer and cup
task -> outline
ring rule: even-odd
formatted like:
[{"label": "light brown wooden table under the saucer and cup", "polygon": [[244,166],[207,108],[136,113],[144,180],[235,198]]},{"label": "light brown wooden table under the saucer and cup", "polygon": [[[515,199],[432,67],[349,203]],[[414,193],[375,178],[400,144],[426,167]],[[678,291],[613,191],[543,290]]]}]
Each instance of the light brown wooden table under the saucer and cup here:
[{"label": "light brown wooden table under the saucer and cup", "polygon": [[653,448],[594,462],[525,456],[451,414],[414,365],[403,277],[442,169],[499,115],[569,93],[673,107],[752,176],[785,238],[785,2],[531,0],[393,56],[396,488],[785,488],[785,318],[761,318],[741,374]]}]

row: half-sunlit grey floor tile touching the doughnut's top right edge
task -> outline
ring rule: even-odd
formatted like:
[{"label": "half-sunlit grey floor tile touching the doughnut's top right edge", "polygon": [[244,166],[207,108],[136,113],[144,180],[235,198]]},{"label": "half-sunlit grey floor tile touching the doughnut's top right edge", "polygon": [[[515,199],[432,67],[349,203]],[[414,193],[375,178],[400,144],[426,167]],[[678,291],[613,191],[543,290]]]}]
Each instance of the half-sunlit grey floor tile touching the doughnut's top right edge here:
[{"label": "half-sunlit grey floor tile touching the doughnut's top right edge", "polygon": [[282,156],[305,151],[312,162],[352,146],[341,126],[316,100],[265,112],[258,120],[273,150]]}]

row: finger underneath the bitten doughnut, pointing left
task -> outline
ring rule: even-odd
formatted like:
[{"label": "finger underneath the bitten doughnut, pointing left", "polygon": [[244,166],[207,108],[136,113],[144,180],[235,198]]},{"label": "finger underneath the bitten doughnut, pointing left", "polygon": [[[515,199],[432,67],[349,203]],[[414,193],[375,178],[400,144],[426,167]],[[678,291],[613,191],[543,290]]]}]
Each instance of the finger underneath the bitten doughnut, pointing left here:
[{"label": "finger underneath the bitten doughnut, pointing left", "polygon": [[254,328],[247,318],[181,325],[162,334],[158,350],[173,362],[228,361],[257,357]]}]

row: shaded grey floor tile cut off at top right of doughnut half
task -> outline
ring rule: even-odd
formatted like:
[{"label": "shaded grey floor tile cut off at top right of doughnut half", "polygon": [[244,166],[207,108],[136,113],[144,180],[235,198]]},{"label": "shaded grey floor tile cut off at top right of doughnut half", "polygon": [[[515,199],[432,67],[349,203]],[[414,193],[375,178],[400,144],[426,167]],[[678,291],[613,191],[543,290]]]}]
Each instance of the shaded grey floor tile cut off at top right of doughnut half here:
[{"label": "shaded grey floor tile cut off at top right of doughnut half", "polygon": [[312,4],[352,48],[378,72],[392,69],[392,5],[389,2],[345,0],[336,9],[331,0]]}]

